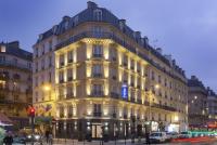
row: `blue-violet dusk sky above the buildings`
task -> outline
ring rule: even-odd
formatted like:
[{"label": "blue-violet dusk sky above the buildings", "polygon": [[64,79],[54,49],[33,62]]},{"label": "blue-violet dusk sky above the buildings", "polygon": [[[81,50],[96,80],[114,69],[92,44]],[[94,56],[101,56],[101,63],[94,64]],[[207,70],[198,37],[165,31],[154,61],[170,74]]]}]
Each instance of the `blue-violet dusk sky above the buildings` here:
[{"label": "blue-violet dusk sky above the buildings", "polygon": [[[171,54],[187,77],[217,91],[217,0],[93,0]],[[38,35],[87,8],[87,0],[0,0],[0,41],[33,52]]]}]

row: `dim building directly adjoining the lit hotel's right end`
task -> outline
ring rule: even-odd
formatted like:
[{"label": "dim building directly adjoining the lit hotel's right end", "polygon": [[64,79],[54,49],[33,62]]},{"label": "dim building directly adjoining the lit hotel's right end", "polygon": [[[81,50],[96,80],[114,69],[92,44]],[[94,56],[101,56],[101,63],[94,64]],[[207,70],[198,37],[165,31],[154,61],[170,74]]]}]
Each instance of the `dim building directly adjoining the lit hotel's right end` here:
[{"label": "dim building directly adjoining the lit hotel's right end", "polygon": [[207,90],[203,82],[195,76],[188,80],[189,85],[189,126],[192,128],[202,128],[208,120],[207,110]]}]

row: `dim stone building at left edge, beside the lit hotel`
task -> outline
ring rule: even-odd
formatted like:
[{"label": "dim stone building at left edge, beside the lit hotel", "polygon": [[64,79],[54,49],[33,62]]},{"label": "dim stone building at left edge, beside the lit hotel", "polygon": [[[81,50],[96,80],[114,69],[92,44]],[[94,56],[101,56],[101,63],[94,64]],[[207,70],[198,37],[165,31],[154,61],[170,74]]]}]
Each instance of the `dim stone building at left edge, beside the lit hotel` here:
[{"label": "dim stone building at left edge, beside the lit hotel", "polygon": [[0,43],[0,111],[20,127],[28,123],[26,107],[33,104],[31,62],[18,41]]}]

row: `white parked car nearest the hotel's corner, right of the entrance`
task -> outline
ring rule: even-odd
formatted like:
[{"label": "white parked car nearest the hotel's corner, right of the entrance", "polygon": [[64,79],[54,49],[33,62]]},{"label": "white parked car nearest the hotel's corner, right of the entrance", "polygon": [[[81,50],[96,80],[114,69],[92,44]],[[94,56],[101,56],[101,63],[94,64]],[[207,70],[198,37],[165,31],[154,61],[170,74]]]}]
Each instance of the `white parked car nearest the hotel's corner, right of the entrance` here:
[{"label": "white parked car nearest the hotel's corner, right of the entrance", "polygon": [[164,143],[169,141],[169,137],[166,135],[166,132],[153,132],[150,134],[151,143]]}]

